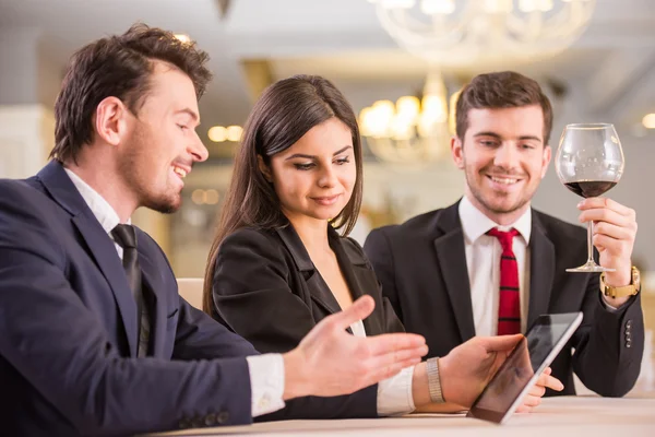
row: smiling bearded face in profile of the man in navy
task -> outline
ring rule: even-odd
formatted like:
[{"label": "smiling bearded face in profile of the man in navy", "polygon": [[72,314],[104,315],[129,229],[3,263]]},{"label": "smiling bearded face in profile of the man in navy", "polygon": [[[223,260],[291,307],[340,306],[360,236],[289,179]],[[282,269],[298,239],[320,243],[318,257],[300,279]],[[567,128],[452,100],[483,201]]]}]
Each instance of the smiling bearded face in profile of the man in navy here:
[{"label": "smiling bearded face in profile of the man in navy", "polygon": [[195,132],[200,123],[193,83],[187,74],[156,62],[151,88],[138,116],[128,118],[120,144],[119,173],[140,206],[163,213],[181,203],[183,178],[207,150]]}]

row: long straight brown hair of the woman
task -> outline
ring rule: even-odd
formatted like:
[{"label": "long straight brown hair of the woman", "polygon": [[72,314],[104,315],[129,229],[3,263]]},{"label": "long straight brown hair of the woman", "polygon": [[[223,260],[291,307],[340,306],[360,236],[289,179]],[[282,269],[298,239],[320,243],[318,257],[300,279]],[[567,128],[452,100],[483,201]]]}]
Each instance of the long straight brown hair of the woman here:
[{"label": "long straight brown hair of the woman", "polygon": [[259,169],[258,155],[270,165],[271,156],[290,147],[311,128],[331,118],[340,119],[353,133],[357,172],[353,196],[332,224],[343,228],[344,235],[355,226],[361,205],[361,141],[353,108],[343,94],[321,76],[295,75],[274,83],[254,104],[235,157],[231,181],[205,269],[203,310],[206,314],[213,312],[216,257],[223,240],[242,227],[271,229],[287,224],[273,185]]}]

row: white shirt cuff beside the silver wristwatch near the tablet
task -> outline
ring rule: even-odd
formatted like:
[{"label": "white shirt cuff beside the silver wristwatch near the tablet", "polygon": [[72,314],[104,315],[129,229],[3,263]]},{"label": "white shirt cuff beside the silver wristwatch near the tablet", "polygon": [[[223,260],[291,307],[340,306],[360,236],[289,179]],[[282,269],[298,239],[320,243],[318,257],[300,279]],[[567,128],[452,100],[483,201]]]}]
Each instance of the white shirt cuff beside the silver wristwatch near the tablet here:
[{"label": "white shirt cuff beside the silver wristwatch near the tablet", "polygon": [[378,382],[378,415],[390,416],[412,413],[415,410],[412,394],[414,366]]}]

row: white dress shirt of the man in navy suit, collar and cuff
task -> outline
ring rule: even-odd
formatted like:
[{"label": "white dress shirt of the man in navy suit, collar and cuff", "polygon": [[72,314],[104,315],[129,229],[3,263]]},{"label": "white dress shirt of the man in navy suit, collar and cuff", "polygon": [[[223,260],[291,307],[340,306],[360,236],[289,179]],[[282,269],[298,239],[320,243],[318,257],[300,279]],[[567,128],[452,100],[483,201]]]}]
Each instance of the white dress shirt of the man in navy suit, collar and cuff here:
[{"label": "white dress shirt of the man in navy suit, collar and cuff", "polygon": [[[111,229],[120,223],[117,212],[111,205],[81,177],[69,168],[64,168],[71,181],[103,226],[111,237]],[[129,223],[129,221],[128,221]],[[118,256],[122,260],[122,248],[115,243]],[[257,417],[272,413],[285,405],[284,393],[284,361],[281,354],[264,354],[246,357],[250,374],[251,412]]]}]

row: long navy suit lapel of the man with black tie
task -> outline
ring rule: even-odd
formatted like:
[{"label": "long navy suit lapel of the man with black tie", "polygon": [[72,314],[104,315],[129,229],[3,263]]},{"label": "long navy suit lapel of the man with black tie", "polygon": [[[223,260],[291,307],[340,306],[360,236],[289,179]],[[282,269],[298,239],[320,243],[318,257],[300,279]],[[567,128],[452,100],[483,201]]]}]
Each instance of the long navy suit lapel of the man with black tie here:
[{"label": "long navy suit lapel of the man with black tie", "polygon": [[68,177],[61,164],[52,161],[37,175],[55,201],[73,217],[87,251],[93,256],[103,275],[109,283],[128,336],[131,356],[136,356],[136,303],[130,291],[128,279],[114,241],[93,215],[82,196]]}]

